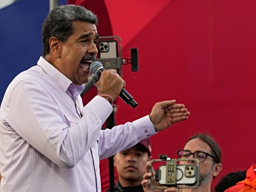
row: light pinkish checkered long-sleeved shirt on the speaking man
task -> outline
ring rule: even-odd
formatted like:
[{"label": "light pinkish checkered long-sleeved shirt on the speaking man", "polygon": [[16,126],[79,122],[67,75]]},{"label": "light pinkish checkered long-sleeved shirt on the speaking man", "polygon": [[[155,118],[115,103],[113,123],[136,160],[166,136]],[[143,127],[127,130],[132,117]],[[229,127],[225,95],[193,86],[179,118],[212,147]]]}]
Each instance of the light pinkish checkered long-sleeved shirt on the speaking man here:
[{"label": "light pinkish checkered long-sleeved shirt on the speaking man", "polygon": [[99,160],[155,134],[148,115],[101,130],[113,108],[100,96],[83,107],[82,89],[43,57],[14,78],[0,108],[1,192],[101,191]]}]

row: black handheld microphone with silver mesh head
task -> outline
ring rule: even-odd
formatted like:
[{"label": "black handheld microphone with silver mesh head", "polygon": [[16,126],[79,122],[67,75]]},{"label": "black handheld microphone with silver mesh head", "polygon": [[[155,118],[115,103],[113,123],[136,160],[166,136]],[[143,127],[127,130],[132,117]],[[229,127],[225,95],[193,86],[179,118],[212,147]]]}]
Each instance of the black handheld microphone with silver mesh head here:
[{"label": "black handheld microphone with silver mesh head", "polygon": [[[96,75],[95,80],[98,81],[101,77],[101,72],[104,71],[103,65],[101,62],[94,61],[90,65],[90,72],[91,74]],[[131,107],[136,107],[138,104],[134,101],[133,97],[124,89],[122,88],[119,97],[123,99],[124,102],[129,104]]]}]

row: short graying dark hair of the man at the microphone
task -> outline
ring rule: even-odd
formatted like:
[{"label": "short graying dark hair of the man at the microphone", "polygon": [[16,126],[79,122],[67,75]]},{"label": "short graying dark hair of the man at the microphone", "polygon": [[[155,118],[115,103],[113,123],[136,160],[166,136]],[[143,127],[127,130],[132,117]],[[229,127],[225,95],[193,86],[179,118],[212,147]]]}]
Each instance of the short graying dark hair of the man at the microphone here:
[{"label": "short graying dark hair of the man at the microphone", "polygon": [[95,25],[98,23],[97,15],[82,6],[62,5],[53,8],[43,22],[43,56],[50,53],[51,37],[66,43],[68,37],[73,34],[73,20]]}]

